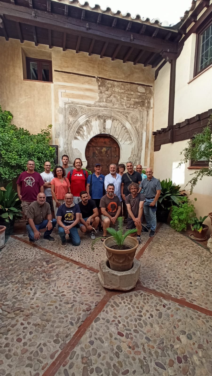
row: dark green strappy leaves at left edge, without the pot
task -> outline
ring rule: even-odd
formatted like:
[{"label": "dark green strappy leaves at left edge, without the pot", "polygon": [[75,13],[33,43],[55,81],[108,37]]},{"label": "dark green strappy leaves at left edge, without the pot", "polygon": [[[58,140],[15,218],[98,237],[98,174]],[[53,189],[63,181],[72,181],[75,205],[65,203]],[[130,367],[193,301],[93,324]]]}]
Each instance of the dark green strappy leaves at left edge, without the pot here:
[{"label": "dark green strappy leaves at left edge, without the pot", "polygon": [[0,223],[15,221],[21,217],[21,203],[18,194],[12,188],[12,182],[6,186],[6,190],[0,190]]}]

